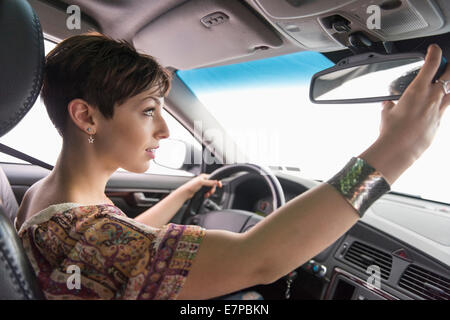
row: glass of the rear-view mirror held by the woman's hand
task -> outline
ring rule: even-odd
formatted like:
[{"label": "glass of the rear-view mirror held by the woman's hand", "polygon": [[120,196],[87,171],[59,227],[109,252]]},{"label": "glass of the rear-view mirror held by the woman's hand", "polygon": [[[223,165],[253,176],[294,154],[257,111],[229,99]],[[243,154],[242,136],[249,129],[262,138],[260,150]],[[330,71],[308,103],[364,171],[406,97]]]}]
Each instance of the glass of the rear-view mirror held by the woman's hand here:
[{"label": "glass of the rear-view mirror held by the woman's hand", "polygon": [[423,58],[417,57],[363,64],[322,74],[312,82],[311,98],[319,103],[352,102],[349,100],[353,99],[395,100],[400,98],[423,63]]}]

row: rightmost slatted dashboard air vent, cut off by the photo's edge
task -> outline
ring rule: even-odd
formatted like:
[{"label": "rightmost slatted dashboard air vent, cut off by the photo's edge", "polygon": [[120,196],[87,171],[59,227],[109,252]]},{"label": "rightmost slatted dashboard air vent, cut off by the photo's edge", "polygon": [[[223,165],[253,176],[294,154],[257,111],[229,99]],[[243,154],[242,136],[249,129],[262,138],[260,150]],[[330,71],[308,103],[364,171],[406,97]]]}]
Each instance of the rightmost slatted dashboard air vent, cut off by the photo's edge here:
[{"label": "rightmost slatted dashboard air vent, cut off by the photo's edge", "polygon": [[399,287],[426,300],[450,300],[450,279],[416,265],[409,265]]}]

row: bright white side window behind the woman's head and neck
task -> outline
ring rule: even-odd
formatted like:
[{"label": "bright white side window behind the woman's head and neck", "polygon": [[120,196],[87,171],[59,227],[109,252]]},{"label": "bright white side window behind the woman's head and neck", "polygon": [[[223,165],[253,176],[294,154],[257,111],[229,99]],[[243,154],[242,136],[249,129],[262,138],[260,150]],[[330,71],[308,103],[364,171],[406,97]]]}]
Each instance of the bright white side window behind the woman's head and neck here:
[{"label": "bright white side window behind the woman's head and neck", "polygon": [[[55,47],[55,43],[45,40],[45,54]],[[170,130],[170,137],[183,140],[201,149],[200,143],[167,111],[162,111]],[[58,135],[53,123],[48,117],[45,105],[40,97],[25,117],[7,134],[0,138],[3,143],[11,148],[21,151],[38,160],[55,165],[62,147],[62,138]],[[28,163],[18,158],[0,153],[0,162]],[[118,171],[125,171],[119,169]],[[147,173],[192,176],[190,172],[168,169],[157,165],[153,160]]]}]

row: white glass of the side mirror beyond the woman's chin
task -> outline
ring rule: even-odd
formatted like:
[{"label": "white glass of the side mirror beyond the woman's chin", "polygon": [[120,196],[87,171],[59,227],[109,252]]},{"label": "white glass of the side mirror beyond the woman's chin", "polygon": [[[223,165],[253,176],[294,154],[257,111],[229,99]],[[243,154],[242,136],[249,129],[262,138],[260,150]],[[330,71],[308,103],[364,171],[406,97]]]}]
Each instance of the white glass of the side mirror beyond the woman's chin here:
[{"label": "white glass of the side mirror beyond the woman's chin", "polygon": [[155,152],[155,163],[170,169],[180,169],[186,158],[186,143],[176,139],[159,141],[159,148]]}]

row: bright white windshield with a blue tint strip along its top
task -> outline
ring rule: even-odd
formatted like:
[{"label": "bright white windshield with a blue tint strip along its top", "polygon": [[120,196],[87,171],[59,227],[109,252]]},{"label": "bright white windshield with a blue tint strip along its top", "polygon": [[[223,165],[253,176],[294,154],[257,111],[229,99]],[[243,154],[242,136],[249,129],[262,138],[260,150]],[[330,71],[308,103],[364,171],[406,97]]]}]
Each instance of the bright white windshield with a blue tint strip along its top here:
[{"label": "bright white windshield with a blue tint strip along its top", "polygon": [[[326,181],[376,140],[381,116],[381,103],[310,102],[312,75],[333,65],[320,53],[300,52],[177,73],[251,162],[299,168],[302,177]],[[392,191],[449,203],[449,136],[447,112],[432,146]]]}]

